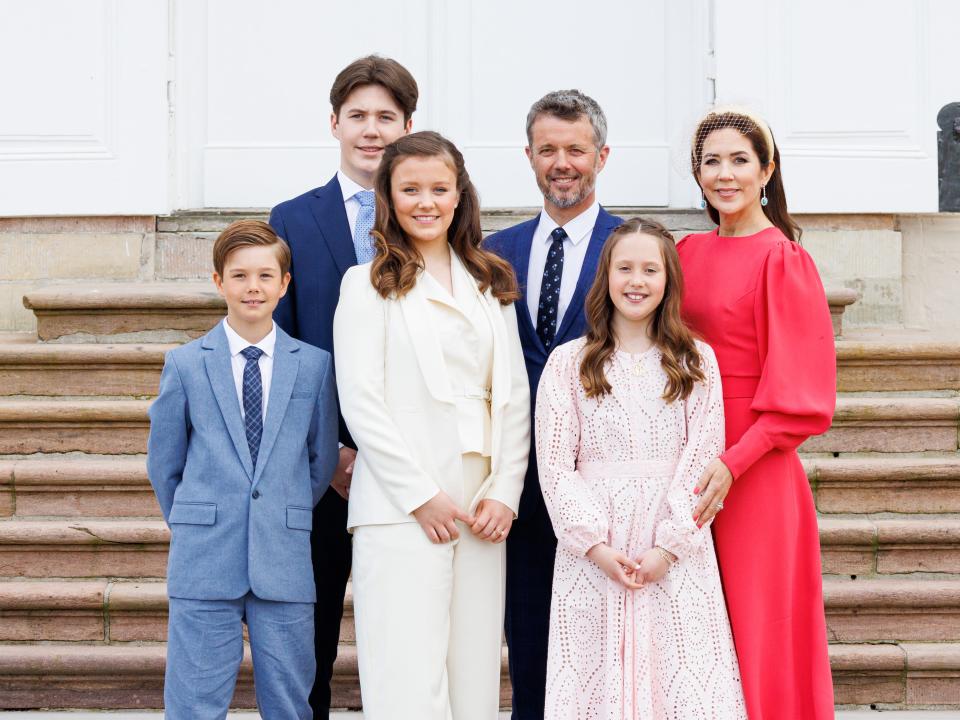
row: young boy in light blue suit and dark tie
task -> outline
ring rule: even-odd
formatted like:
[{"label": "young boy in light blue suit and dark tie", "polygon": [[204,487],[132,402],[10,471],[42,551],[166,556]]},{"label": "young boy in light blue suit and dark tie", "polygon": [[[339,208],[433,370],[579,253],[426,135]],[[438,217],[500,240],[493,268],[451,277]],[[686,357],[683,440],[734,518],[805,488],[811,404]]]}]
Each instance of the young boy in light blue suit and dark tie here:
[{"label": "young boy in light blue suit and dark tie", "polygon": [[265,720],[312,717],[313,506],[337,462],[329,353],[273,322],[290,250],[269,225],[214,245],[227,317],[167,353],[147,472],[170,526],[166,717],[225,718],[246,622]]}]

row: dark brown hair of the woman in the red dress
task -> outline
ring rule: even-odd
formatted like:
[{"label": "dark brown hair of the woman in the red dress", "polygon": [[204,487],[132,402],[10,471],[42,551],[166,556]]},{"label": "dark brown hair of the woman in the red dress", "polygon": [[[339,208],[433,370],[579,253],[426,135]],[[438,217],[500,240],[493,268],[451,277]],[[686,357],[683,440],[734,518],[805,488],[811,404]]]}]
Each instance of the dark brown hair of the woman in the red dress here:
[{"label": "dark brown hair of the woman in the red dress", "polygon": [[[762,122],[762,120],[760,121]],[[767,143],[763,129],[749,115],[741,114],[736,111],[708,113],[699,124],[693,134],[693,144],[690,148],[690,165],[693,170],[693,179],[700,185],[700,166],[703,162],[703,144],[710,133],[724,128],[733,128],[750,141],[753,151],[760,159],[760,167],[766,168],[773,160],[773,174],[767,181],[766,207],[763,208],[763,214],[780,229],[790,240],[799,241],[803,230],[797,222],[790,217],[787,211],[787,195],[783,187],[783,173],[780,169],[780,148],[777,147],[773,138],[773,131],[770,132],[770,142],[773,144],[773,155],[770,154],[770,146]],[[714,224],[720,224],[720,213],[713,205],[707,203],[707,214]]]}]

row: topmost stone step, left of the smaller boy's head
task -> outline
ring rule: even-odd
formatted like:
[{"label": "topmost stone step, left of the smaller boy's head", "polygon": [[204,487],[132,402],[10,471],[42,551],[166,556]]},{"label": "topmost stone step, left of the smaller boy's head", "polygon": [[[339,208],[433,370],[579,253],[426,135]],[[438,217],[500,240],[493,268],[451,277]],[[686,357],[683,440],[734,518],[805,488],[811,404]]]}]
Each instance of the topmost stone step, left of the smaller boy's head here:
[{"label": "topmost stone step, left of the smaller boy's head", "polygon": [[226,313],[212,282],[56,285],[28,292],[23,304],[39,338],[59,342],[185,342]]}]

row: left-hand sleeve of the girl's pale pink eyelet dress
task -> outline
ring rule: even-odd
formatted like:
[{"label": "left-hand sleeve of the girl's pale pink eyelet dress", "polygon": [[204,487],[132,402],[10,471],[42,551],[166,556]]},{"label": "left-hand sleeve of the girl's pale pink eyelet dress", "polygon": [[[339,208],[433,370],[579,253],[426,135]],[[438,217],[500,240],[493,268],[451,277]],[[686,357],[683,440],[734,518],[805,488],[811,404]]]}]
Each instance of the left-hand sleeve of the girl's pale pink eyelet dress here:
[{"label": "left-hand sleeve of the girl's pale pink eyelet dress", "polygon": [[585,555],[607,542],[609,519],[589,482],[577,472],[580,447],[579,353],[558,348],[537,391],[536,444],[540,488],[558,542]]}]

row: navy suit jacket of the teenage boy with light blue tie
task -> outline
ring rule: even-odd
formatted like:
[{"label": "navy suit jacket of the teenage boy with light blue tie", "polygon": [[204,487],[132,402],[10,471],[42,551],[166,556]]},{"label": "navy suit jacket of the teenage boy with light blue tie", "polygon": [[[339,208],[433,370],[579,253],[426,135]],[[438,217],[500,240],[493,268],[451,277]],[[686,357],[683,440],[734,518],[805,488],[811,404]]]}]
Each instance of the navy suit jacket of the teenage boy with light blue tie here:
[{"label": "navy suit jacket of the teenage boy with light blue tie", "polygon": [[[333,354],[333,313],[343,274],[357,264],[337,176],[277,205],[270,226],[293,253],[292,279],[273,319],[291,337]],[[356,448],[340,417],[340,442]]]}]

